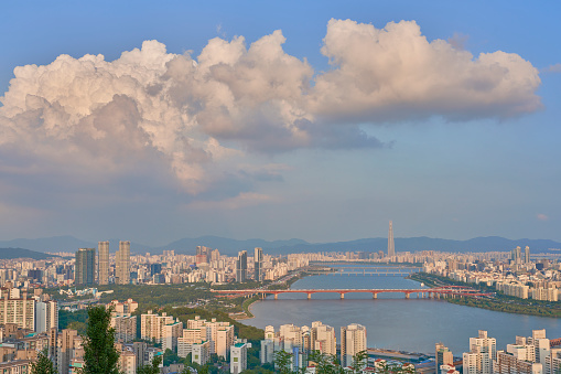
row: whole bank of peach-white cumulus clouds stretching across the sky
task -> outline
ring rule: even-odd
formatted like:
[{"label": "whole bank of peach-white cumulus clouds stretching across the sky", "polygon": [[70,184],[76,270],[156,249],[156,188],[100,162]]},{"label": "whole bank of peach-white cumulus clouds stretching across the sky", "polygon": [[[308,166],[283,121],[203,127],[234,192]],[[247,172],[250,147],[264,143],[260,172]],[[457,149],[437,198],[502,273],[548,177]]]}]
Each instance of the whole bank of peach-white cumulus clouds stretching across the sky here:
[{"label": "whole bank of peach-white cumulus clouds stretching across the sky", "polygon": [[[256,180],[282,180],[248,167],[250,152],[379,148],[357,124],[504,118],[541,106],[529,62],[430,42],[414,21],[331,20],[321,51],[332,68],[320,73],[284,42],[280,30],[249,46],[216,38],[193,58],[145,41],[115,61],[61,55],[15,67],[0,97],[0,173],[18,183],[39,168],[65,183],[106,183],[158,170],[201,199],[240,196],[238,206],[267,201],[251,191]],[[236,188],[217,186],[225,181]]]}]

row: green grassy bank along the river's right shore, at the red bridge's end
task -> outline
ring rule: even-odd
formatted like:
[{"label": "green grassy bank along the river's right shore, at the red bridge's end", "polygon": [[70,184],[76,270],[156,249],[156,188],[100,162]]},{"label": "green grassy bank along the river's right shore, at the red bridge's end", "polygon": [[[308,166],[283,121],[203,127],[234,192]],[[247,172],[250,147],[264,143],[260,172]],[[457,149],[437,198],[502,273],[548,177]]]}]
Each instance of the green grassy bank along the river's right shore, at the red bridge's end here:
[{"label": "green grassy bank along the river's right shore, at the red bridge's end", "polygon": [[439,286],[466,286],[479,289],[485,292],[495,292],[495,297],[487,298],[454,298],[446,301],[474,308],[500,311],[515,314],[539,316],[539,317],[561,317],[561,302],[559,301],[541,301],[533,299],[520,299],[497,292],[494,287],[487,285],[466,284],[456,281],[446,277],[433,274],[418,273],[409,276],[410,279],[424,282],[429,287]]}]

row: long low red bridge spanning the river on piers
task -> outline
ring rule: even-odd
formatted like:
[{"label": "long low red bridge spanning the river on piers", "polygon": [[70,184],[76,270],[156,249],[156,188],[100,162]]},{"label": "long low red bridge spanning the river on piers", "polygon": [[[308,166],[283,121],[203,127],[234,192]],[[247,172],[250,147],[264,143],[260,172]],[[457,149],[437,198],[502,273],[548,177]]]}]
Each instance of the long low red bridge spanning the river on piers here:
[{"label": "long low red bridge spanning the river on piers", "polygon": [[473,288],[462,286],[436,287],[425,289],[240,289],[240,290],[212,290],[212,292],[219,293],[224,297],[239,297],[239,296],[253,296],[261,295],[265,299],[267,295],[273,295],[274,300],[278,299],[280,293],[306,293],[308,299],[312,299],[313,293],[339,293],[341,298],[345,298],[345,293],[371,293],[373,298],[378,298],[378,293],[401,292],[404,293],[406,299],[409,299],[411,293],[417,293],[421,298],[440,298],[449,296],[461,297],[482,297],[493,296],[493,293],[484,293]]}]

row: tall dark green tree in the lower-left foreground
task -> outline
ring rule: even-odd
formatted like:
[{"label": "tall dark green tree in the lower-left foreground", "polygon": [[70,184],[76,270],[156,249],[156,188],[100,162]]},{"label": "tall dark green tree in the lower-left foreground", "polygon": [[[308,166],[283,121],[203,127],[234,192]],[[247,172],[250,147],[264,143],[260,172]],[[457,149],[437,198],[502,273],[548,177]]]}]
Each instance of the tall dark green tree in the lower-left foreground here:
[{"label": "tall dark green tree in the lower-left foreground", "polygon": [[115,348],[115,329],[110,327],[111,311],[105,306],[88,308],[82,374],[119,374],[119,352]]}]

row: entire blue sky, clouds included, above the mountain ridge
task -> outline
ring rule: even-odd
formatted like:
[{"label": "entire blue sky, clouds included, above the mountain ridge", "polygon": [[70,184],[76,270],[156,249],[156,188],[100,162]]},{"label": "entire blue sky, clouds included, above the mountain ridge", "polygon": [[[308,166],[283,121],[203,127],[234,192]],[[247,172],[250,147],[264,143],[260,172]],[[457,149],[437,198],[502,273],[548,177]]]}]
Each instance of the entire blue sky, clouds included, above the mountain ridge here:
[{"label": "entire blue sky, clouds included, above the mountain ridge", "polygon": [[560,8],[3,3],[0,237],[561,241]]}]

